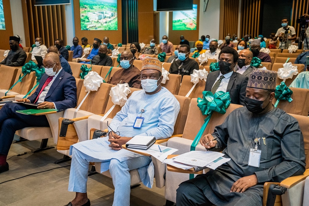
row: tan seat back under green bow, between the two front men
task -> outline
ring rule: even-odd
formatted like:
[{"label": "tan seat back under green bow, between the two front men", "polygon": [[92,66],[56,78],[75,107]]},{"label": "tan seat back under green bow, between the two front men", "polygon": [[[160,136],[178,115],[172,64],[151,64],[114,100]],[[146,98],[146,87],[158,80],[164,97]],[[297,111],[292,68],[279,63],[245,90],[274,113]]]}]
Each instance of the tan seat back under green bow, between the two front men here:
[{"label": "tan seat back under green bow, between the two front men", "polygon": [[[220,125],[224,122],[226,117],[234,110],[239,107],[242,107],[242,105],[235,105],[231,104],[227,109],[225,114],[219,114],[217,112],[214,112],[210,118],[210,121],[208,122],[208,125],[203,132],[203,135],[211,134],[214,132],[214,128],[217,125]],[[191,100],[189,112],[188,112],[188,118],[186,121],[186,124],[184,126],[184,133],[183,138],[185,139],[191,139],[193,140],[195,136],[197,135],[198,131],[201,129],[202,125],[204,124],[204,120],[207,116],[202,115],[200,108],[197,106],[197,99],[194,98]]]}]

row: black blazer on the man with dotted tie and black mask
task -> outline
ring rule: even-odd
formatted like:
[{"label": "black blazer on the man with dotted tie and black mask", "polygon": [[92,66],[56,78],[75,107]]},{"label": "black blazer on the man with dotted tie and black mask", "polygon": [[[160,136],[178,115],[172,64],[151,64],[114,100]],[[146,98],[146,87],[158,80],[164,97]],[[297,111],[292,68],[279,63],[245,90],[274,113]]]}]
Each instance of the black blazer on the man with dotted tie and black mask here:
[{"label": "black blazer on the man with dotted tie and black mask", "polygon": [[[219,74],[220,71],[213,71],[208,74],[204,91],[211,90]],[[230,92],[232,104],[244,105],[243,99],[246,96],[247,84],[248,84],[247,76],[241,75],[233,71],[230,81],[227,84],[226,88],[226,92]]]}]

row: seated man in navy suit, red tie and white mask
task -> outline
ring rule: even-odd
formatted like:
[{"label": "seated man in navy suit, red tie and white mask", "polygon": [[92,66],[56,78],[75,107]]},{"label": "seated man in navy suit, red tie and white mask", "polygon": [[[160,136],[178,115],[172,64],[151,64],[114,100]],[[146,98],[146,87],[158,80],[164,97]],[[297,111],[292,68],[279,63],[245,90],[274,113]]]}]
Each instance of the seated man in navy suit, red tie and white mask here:
[{"label": "seated man in navy suit, red tie and white mask", "polygon": [[[74,108],[77,104],[75,78],[65,72],[59,56],[53,52],[43,59],[43,74],[36,91],[20,102],[38,104],[38,109],[58,109],[58,112]],[[8,171],[6,157],[11,147],[15,131],[25,127],[49,127],[45,115],[25,115],[16,110],[33,109],[33,106],[7,103],[0,110],[0,173]]]}]

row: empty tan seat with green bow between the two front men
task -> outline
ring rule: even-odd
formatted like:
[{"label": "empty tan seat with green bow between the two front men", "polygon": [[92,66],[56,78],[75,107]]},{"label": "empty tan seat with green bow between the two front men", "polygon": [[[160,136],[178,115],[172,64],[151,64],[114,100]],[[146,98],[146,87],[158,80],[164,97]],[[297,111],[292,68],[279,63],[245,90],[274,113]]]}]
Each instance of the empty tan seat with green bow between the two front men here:
[{"label": "empty tan seat with green bow between the two front men", "polygon": [[[234,110],[241,105],[231,104],[227,109],[225,114],[219,114],[214,112],[210,121],[203,132],[203,135],[211,134],[214,132],[214,127],[223,123],[226,117]],[[193,139],[197,135],[198,131],[201,129],[204,124],[204,120],[207,116],[201,114],[201,110],[197,107],[197,99],[194,98],[191,100],[187,121],[184,126],[184,132],[181,137],[173,137],[167,141],[167,146],[171,148],[179,149],[173,154],[183,154],[185,152],[190,152],[190,146],[193,142]],[[205,147],[198,143],[196,150],[205,151]],[[205,172],[205,170],[204,170]],[[165,199],[176,202],[176,189],[178,188],[181,182],[184,182],[189,179],[189,174],[176,173],[166,170],[165,176]]]}]

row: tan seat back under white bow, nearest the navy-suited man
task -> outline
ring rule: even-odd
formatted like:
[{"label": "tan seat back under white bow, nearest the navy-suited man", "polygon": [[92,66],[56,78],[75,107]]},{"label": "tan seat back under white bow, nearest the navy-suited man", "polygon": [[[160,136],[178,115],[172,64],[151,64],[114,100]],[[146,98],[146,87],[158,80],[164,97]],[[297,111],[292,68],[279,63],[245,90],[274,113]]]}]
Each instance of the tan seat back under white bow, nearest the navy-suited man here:
[{"label": "tan seat back under white bow, nearest the navy-suited man", "polygon": [[[93,114],[104,114],[111,88],[112,84],[102,83],[98,91],[90,92],[83,105],[80,107],[80,110],[91,112]],[[83,85],[79,94],[77,105],[81,103],[86,94],[87,91]]]}]

